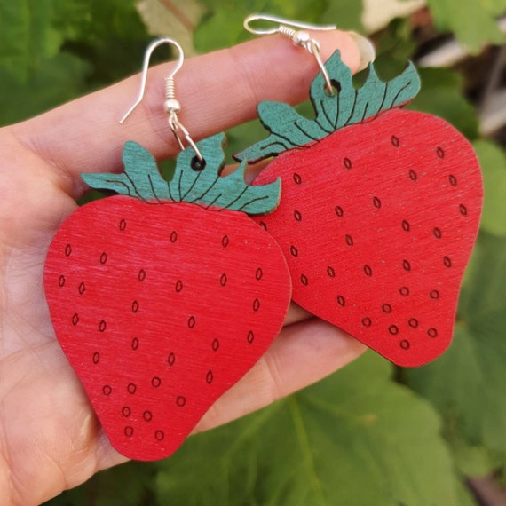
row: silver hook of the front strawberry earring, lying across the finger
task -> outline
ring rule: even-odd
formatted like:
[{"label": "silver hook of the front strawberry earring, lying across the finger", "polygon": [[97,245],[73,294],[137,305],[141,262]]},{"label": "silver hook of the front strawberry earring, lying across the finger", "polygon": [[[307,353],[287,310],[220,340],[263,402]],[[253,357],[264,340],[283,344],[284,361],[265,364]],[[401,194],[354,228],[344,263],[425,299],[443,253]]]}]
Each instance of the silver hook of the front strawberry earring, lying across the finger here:
[{"label": "silver hook of the front strawberry earring, lying across the finger", "polygon": [[176,141],[178,142],[178,146],[181,149],[181,151],[185,149],[185,145],[183,144],[180,134],[182,134],[182,137],[186,139],[188,145],[194,149],[197,158],[202,162],[203,157],[201,152],[194,143],[194,140],[190,137],[190,134],[188,130],[186,130],[183,123],[181,123],[178,120],[178,113],[181,111],[181,105],[179,104],[179,101],[176,99],[174,76],[178,74],[178,71],[181,69],[181,67],[183,67],[183,62],[185,61],[185,53],[183,51],[183,48],[179,45],[179,43],[176,42],[174,39],[171,39],[170,37],[162,37],[156,39],[152,43],[150,43],[149,46],[147,46],[146,54],[144,56],[144,63],[142,66],[142,75],[140,81],[140,90],[138,91],[138,99],[135,101],[132,107],[130,107],[130,109],[125,113],[125,115],[123,115],[123,118],[120,120],[120,123],[123,123],[128,118],[128,116],[130,116],[130,114],[134,111],[134,109],[138,107],[138,105],[142,102],[142,99],[144,99],[144,94],[146,92],[147,70],[149,68],[149,60],[151,59],[153,51],[164,43],[169,43],[173,45],[178,50],[179,55],[176,67],[174,67],[170,72],[170,74],[167,75],[167,77],[165,77],[165,102],[163,103],[163,108],[165,112],[169,115],[168,122],[170,130],[172,131],[174,138],[176,138]]}]

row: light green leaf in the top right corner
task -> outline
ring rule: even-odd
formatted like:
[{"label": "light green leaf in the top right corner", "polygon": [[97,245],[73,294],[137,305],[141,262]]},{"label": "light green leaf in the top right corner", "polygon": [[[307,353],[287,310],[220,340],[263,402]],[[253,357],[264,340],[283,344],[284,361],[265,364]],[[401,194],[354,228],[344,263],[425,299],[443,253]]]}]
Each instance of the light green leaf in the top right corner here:
[{"label": "light green leaf in the top right corner", "polygon": [[506,12],[505,0],[427,0],[441,30],[452,31],[471,51],[484,43],[504,43],[497,18]]}]

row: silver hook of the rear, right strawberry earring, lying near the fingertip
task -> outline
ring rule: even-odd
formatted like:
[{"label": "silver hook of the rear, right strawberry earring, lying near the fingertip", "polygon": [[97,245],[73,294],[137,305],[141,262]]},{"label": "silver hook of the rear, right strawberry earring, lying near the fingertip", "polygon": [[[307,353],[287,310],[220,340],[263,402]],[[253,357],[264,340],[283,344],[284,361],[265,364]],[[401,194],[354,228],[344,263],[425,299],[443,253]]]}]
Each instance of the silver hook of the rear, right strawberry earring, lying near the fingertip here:
[{"label": "silver hook of the rear, right strawberry earring, lying near the fingertip", "polygon": [[[273,28],[253,28],[251,26],[253,21],[268,21],[275,23],[277,26]],[[330,95],[334,95],[334,89],[332,87],[332,83],[330,82],[327,68],[325,68],[320,56],[320,43],[318,43],[316,39],[313,39],[312,36],[310,36],[305,30],[329,31],[335,30],[336,25],[313,25],[312,23],[286,20],[285,18],[272,16],[271,14],[251,14],[244,20],[243,25],[250,34],[256,36],[272,36],[275,34],[287,36],[296,46],[302,47],[312,54],[318,63],[321,75],[323,75],[325,87]],[[302,30],[296,30],[295,28],[302,28]]]}]

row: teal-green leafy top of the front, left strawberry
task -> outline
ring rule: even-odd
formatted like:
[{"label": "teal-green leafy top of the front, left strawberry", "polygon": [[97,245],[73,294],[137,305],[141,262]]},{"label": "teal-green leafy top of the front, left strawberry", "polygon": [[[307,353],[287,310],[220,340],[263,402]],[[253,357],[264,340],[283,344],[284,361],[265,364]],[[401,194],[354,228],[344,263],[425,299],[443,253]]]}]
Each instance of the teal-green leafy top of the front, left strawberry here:
[{"label": "teal-green leafy top of the front, left strawberry", "polygon": [[212,210],[236,210],[250,215],[272,212],[281,195],[281,179],[265,186],[250,186],[244,179],[246,162],[232,174],[221,177],[225,166],[225,134],[219,133],[197,143],[200,161],[192,147],[178,154],[174,177],[162,178],[153,154],[137,142],[123,147],[124,172],[85,173],[84,182],[96,190],[114,191],[150,204],[193,203]]}]

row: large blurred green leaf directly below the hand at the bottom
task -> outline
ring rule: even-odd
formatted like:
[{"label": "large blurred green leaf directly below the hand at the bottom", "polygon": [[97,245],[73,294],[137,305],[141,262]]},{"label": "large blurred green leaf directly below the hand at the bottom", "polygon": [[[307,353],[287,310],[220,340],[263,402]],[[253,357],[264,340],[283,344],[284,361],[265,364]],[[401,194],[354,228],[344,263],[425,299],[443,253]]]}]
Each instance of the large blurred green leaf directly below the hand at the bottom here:
[{"label": "large blurred green leaf directly below the hand at the bottom", "polygon": [[461,505],[439,419],[369,353],[335,376],[189,439],[162,463],[161,504]]}]

